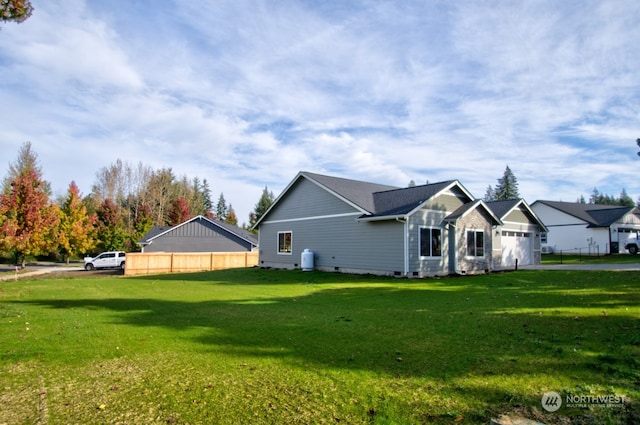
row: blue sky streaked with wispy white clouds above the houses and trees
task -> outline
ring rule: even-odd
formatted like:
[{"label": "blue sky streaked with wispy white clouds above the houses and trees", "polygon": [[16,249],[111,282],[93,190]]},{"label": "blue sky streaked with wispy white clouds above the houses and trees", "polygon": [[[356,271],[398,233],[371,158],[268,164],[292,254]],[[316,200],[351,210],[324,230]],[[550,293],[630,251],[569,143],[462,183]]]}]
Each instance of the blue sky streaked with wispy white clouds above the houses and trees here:
[{"label": "blue sky streaked with wispy white clouds above the houses and trees", "polygon": [[640,196],[640,2],[32,0],[0,31],[0,173],[55,194],[120,158],[240,222],[300,170],[475,196]]}]

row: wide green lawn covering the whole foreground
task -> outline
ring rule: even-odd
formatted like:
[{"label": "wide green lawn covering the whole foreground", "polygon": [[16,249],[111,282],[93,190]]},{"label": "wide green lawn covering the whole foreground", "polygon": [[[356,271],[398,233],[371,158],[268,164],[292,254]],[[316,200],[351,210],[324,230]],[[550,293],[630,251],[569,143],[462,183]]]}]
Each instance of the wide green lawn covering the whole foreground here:
[{"label": "wide green lawn covering the whole foreground", "polygon": [[[260,269],[2,282],[0,423],[633,423],[638,286]],[[629,402],[551,414],[547,391]]]}]

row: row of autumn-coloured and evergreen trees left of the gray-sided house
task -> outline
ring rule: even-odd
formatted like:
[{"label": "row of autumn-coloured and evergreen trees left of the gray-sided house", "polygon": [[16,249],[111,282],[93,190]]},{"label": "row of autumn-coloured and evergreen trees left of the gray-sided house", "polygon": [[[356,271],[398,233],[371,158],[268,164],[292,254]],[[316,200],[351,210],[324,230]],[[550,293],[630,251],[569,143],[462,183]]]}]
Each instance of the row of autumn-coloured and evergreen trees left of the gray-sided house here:
[{"label": "row of autumn-coloured and evergreen trees left of the gray-sided house", "polygon": [[[214,205],[206,179],[121,160],[96,173],[90,194],[83,197],[72,181],[53,200],[37,158],[31,143],[23,144],[0,195],[0,254],[22,267],[27,257],[69,261],[100,251],[138,251],[137,242],[154,226],[175,226],[197,215],[238,225],[223,193]],[[273,200],[265,187],[243,227],[251,228]]]}]

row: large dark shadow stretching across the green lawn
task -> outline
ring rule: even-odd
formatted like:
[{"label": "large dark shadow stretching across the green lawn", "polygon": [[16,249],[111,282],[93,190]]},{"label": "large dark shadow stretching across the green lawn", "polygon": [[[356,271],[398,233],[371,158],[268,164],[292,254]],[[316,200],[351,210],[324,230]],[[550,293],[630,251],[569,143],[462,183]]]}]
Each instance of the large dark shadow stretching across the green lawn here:
[{"label": "large dark shadow stretching across the green lawn", "polygon": [[[203,275],[208,274],[195,276]],[[225,281],[226,276],[234,274],[216,274],[217,284],[245,284]],[[329,273],[304,276],[314,284],[340,279]],[[566,375],[574,380],[586,377],[591,385],[637,386],[640,320],[624,312],[638,305],[637,292],[624,283],[589,292],[597,276],[573,282],[574,293],[558,291],[545,279],[529,276],[533,275],[443,279],[426,286],[380,279],[387,285],[362,287],[356,278],[353,286],[320,287],[302,296],[230,301],[112,298],[15,303],[103,309],[112,312],[115,323],[174,329],[180,332],[173,338],[187,338],[198,347],[203,344],[247,361],[281,358],[301,367],[443,380],[470,374]],[[265,279],[301,284],[300,277],[285,272]],[[174,279],[178,276],[158,277]],[[362,281],[372,283],[371,277]],[[577,313],[567,314],[574,308]]]}]

